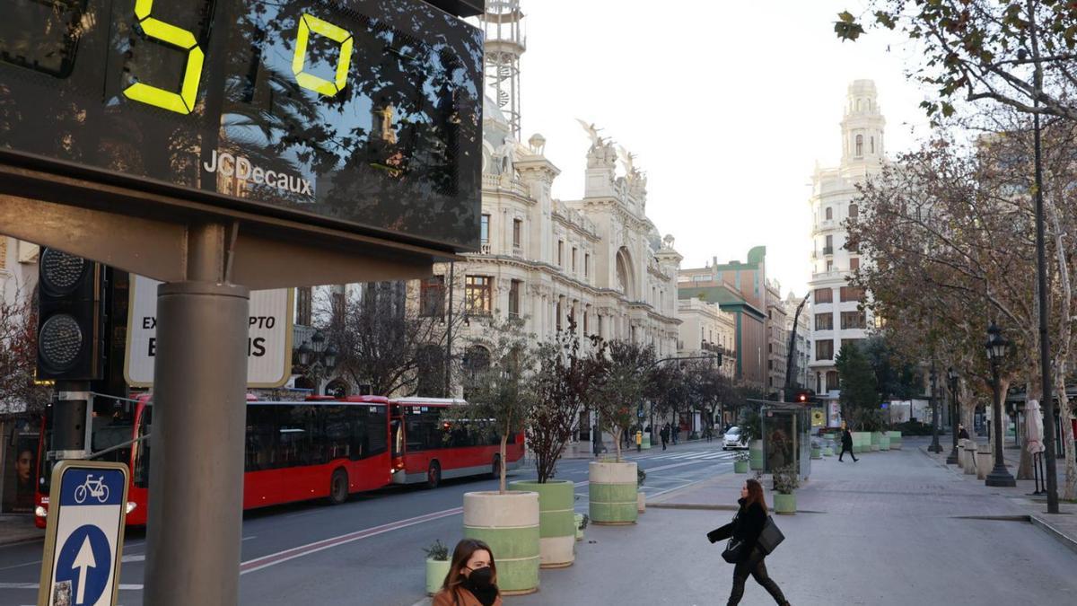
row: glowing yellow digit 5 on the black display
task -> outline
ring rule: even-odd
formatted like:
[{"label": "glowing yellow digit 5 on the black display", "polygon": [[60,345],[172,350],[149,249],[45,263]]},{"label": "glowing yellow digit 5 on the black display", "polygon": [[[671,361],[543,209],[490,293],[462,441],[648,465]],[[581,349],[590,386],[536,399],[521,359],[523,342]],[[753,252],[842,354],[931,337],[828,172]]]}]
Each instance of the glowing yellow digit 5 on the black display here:
[{"label": "glowing yellow digit 5 on the black display", "polygon": [[135,16],[138,17],[146,36],[187,52],[187,67],[183,73],[183,82],[180,84],[179,93],[139,82],[125,88],[124,95],[136,101],[177,113],[191,113],[195,109],[195,97],[198,94],[198,83],[201,82],[201,68],[206,56],[198,47],[194,33],[153,18],[150,16],[151,12],[153,12],[153,0],[135,0]]}]

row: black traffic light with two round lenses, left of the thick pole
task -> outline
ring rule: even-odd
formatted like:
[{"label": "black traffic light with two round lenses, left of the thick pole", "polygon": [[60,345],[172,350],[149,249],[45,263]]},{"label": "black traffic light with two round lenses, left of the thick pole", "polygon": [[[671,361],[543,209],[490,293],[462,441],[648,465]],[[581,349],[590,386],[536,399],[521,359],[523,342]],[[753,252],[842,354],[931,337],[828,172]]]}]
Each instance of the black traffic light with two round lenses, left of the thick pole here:
[{"label": "black traffic light with two round lenses, left of the thick pole", "polygon": [[104,370],[104,266],[42,248],[38,378],[97,381]]}]

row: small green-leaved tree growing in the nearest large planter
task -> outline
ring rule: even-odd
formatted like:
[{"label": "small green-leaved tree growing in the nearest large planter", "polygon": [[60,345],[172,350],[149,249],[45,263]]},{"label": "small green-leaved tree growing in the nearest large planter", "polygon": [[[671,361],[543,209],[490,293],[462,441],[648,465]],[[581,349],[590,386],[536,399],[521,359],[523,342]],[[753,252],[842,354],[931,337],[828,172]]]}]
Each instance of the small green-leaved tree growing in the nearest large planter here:
[{"label": "small green-leaved tree growing in the nearest large planter", "polygon": [[499,491],[504,494],[505,445],[526,429],[528,413],[535,407],[533,336],[523,332],[523,320],[518,318],[490,320],[489,328],[485,334],[491,339],[476,341],[489,348],[489,366],[476,370],[467,403],[448,409],[442,418],[468,432],[500,437]]}]

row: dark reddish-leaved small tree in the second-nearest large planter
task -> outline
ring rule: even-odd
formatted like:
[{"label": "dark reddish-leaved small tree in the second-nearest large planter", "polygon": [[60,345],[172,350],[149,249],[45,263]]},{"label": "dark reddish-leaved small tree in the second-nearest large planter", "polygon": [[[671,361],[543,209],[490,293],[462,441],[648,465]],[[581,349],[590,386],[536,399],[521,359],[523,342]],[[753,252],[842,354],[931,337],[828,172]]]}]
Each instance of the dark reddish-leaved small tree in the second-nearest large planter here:
[{"label": "dark reddish-leaved small tree in the second-nearest large planter", "polygon": [[527,417],[528,447],[534,453],[538,482],[554,478],[557,462],[572,438],[572,428],[587,396],[605,366],[605,342],[590,336],[588,353],[576,335],[576,322],[558,331],[535,352],[536,370],[531,376],[531,410]]}]

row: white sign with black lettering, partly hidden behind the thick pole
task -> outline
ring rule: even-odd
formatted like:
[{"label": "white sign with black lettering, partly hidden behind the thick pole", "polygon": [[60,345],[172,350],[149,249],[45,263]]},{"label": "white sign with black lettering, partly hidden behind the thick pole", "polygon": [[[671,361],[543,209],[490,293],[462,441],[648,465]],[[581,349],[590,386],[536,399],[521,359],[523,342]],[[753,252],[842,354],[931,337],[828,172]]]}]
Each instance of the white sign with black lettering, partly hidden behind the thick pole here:
[{"label": "white sign with black lettering, partly hidden behind the thick pole", "polygon": [[[157,280],[131,275],[124,376],[132,387],[153,386],[157,349]],[[280,387],[292,372],[294,291],[251,292],[247,336],[247,386]]]}]

